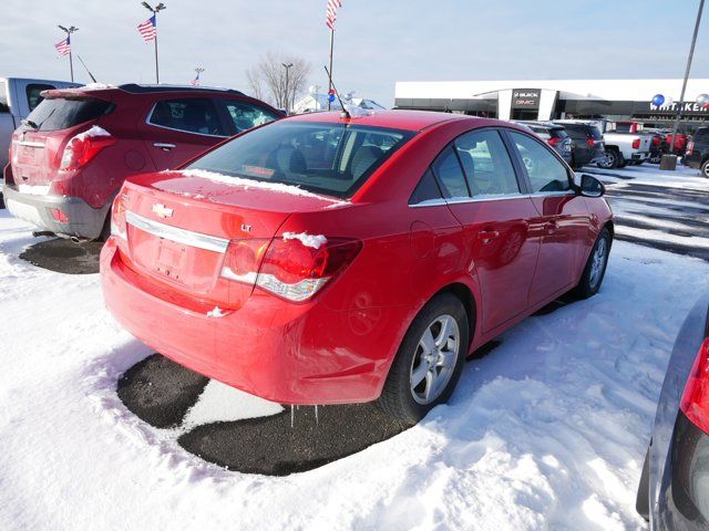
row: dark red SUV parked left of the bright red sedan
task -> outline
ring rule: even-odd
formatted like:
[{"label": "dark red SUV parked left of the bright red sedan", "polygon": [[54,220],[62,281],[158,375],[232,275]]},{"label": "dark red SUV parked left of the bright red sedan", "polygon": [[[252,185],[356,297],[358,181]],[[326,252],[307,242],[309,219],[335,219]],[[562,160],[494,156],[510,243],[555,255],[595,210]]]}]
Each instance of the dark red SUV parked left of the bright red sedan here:
[{"label": "dark red SUV parked left of the bright red sedan", "polygon": [[174,168],[228,136],[284,116],[238,91],[122,85],[48,91],[12,135],[10,212],[41,230],[107,238],[124,179]]}]

